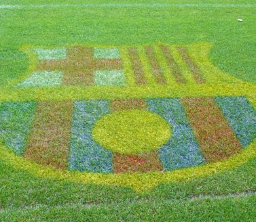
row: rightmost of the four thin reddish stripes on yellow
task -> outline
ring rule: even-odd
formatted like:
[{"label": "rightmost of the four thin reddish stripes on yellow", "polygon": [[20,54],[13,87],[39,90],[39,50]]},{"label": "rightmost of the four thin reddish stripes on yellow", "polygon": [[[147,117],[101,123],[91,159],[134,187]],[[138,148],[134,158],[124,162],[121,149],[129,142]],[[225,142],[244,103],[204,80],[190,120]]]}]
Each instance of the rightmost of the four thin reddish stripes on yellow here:
[{"label": "rightmost of the four thin reddish stripes on yellow", "polygon": [[187,64],[187,66],[191,70],[196,83],[198,83],[198,84],[206,83],[206,81],[204,80],[204,78],[201,74],[200,69],[198,68],[196,63],[193,60],[191,60],[191,58],[189,57],[189,54],[187,53],[187,49],[185,47],[177,47],[177,49],[178,49],[179,53],[181,54],[183,61]]}]

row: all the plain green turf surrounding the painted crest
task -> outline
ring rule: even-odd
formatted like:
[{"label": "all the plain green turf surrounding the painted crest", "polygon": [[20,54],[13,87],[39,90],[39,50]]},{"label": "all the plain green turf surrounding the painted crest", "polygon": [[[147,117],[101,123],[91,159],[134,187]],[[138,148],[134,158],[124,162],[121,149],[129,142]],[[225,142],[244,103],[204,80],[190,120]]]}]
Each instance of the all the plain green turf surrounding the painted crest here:
[{"label": "all the plain green turf surrounding the painted crest", "polygon": [[[158,5],[151,5],[156,3],[153,0],[77,0],[77,6],[71,7],[73,2],[0,0],[0,95],[14,100],[19,97],[3,87],[29,67],[29,58],[19,51],[24,45],[115,47],[207,42],[213,44],[210,60],[215,66],[242,81],[256,83],[253,0],[162,0]],[[1,5],[20,5],[22,9]],[[238,18],[244,22],[237,22]],[[98,51],[98,56],[119,57],[116,51],[111,53]],[[98,78],[102,85],[100,78],[107,77]],[[54,94],[58,91],[50,90],[45,97],[59,98]],[[75,90],[67,89],[65,96],[76,97]],[[79,91],[78,98],[86,92]],[[107,88],[101,93],[111,97]],[[33,90],[21,95],[23,100],[33,95],[37,98]],[[138,194],[127,187],[41,179],[0,160],[0,221],[255,221],[255,167],[256,159],[230,171],[158,185]]]}]

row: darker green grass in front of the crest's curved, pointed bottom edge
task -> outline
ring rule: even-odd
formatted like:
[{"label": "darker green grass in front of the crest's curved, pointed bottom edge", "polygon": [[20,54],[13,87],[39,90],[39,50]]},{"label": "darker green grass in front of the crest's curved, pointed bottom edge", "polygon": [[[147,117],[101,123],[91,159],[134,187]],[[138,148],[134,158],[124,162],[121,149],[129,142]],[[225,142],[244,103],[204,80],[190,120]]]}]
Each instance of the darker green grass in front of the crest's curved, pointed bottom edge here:
[{"label": "darker green grass in front of the crest's curved, pointed bottom edge", "polygon": [[[198,221],[200,219],[210,221],[215,217],[215,219],[219,217],[219,220],[226,217],[225,221],[229,221],[229,218],[230,221],[235,220],[236,217],[242,219],[245,216],[253,219],[255,218],[255,213],[253,213],[255,208],[251,203],[255,200],[255,194],[251,194],[250,197],[230,197],[223,200],[215,198],[211,200],[211,196],[242,195],[244,192],[253,192],[256,180],[255,167],[256,159],[238,169],[219,175],[189,182],[160,185],[150,192],[136,194],[132,190],[122,187],[77,185],[38,179],[0,162],[2,178],[0,180],[0,219],[15,219],[23,215],[25,220],[31,216],[30,214],[33,219],[37,219],[39,214],[42,218],[60,217],[68,220],[79,219],[81,215],[89,214],[92,218],[127,217],[126,219],[129,219],[132,217],[138,220],[143,213],[146,218],[158,215],[158,220],[164,220],[172,214],[183,215],[187,218],[198,217]],[[206,200],[203,198],[203,200],[191,202],[191,199],[197,199],[200,196],[206,196]],[[211,208],[211,204],[219,206]],[[238,204],[243,207],[239,207]],[[92,208],[88,209],[88,206],[92,206]],[[136,210],[136,207],[139,208],[139,211]],[[73,208],[77,208],[77,211],[70,213]],[[192,210],[193,208],[196,212]],[[223,209],[221,210],[221,208]],[[116,213],[113,216],[116,210],[117,212],[120,210],[120,214]],[[57,212],[60,215],[56,215]],[[167,212],[169,215],[166,215]],[[131,213],[134,215],[130,215]],[[234,213],[236,217],[233,217]],[[245,213],[247,215],[244,215]],[[191,221],[194,220],[191,219]]]}]

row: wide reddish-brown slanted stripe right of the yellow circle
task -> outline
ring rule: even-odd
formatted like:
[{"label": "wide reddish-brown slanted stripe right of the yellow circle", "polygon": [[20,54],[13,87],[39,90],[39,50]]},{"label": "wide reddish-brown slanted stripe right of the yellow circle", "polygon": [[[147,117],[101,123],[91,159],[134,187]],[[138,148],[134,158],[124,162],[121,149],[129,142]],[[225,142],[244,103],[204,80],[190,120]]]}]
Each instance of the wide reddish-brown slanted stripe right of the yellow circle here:
[{"label": "wide reddish-brown slanted stripe right of the yellow circle", "polygon": [[241,144],[213,98],[183,98],[182,102],[206,162],[217,162],[241,151]]}]

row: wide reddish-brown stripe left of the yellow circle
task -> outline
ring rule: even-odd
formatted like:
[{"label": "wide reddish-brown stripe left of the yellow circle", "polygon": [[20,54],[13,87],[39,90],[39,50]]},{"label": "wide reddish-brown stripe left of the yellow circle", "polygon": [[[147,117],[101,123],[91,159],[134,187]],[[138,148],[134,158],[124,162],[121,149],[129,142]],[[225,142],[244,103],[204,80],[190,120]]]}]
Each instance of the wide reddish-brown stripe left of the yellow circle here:
[{"label": "wide reddish-brown stripe left of the yellow circle", "polygon": [[40,102],[24,156],[39,164],[66,169],[72,102]]}]

